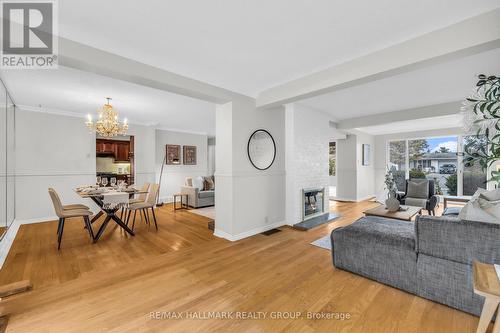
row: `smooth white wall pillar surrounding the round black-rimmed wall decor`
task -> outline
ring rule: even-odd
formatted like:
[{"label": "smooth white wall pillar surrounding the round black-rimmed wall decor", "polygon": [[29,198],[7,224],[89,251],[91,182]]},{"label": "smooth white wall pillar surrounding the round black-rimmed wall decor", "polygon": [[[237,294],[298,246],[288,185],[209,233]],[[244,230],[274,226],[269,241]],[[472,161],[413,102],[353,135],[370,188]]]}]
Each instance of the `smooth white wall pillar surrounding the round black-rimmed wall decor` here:
[{"label": "smooth white wall pillar surrounding the round black-rimmed wall decor", "polygon": [[[285,224],[284,118],[284,108],[256,109],[252,99],[217,106],[216,236],[236,240]],[[257,129],[268,130],[276,142],[276,160],[264,171],[247,155]]]}]

